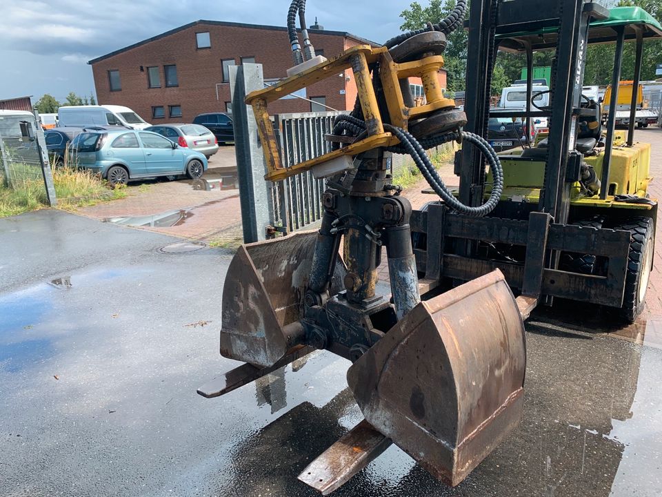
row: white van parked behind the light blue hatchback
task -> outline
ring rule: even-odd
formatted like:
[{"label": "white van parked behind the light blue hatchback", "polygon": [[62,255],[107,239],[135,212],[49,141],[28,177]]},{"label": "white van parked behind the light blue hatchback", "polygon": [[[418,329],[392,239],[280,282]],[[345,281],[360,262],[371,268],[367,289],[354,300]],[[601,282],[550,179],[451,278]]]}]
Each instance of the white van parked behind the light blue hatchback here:
[{"label": "white van parked behind the light blue hatchback", "polygon": [[66,106],[57,110],[61,128],[86,126],[125,126],[145,129],[152,126],[128,107],[123,106]]}]

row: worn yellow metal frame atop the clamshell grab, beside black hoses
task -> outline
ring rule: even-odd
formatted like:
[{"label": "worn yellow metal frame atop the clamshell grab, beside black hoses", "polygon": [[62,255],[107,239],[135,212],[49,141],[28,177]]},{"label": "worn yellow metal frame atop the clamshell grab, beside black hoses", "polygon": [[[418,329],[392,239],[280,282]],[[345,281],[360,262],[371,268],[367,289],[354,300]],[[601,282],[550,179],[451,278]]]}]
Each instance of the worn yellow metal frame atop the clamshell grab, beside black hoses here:
[{"label": "worn yellow metal frame atop the clamshell grab, beside black hoses", "polygon": [[[391,58],[388,48],[372,48],[369,45],[359,45],[346,50],[338,57],[326,61],[301,72],[298,75],[284,79],[279,84],[263,90],[257,90],[246,97],[246,104],[252,106],[257,121],[258,133],[262,142],[264,158],[268,173],[265,179],[277,182],[290,176],[310,170],[313,166],[337,159],[343,155],[357,155],[374,148],[393,146],[399,140],[391,133],[384,131],[383,120],[377,104],[377,95],[372,87],[369,65],[379,62],[379,75],[386,102],[390,122],[394,126],[407,129],[409,119],[421,119],[437,110],[453,108],[455,102],[443,97],[437,73],[443,68],[441,55],[426,57],[420,61],[396,64]],[[368,136],[353,144],[334,150],[331,153],[315,157],[301,164],[285,168],[281,162],[278,144],[267,106],[285,95],[302,90],[323,79],[328,79],[338,72],[351,69],[357,83],[357,90]],[[409,108],[404,103],[400,79],[420,77],[428,104]]]}]

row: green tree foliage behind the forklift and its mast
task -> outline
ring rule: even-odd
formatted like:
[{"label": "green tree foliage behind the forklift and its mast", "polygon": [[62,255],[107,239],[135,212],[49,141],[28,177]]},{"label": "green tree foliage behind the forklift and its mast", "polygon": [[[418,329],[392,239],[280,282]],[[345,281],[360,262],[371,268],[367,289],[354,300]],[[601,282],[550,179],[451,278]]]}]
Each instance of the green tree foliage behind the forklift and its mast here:
[{"label": "green tree foliage behind the forklift and its mast", "polygon": [[[655,19],[662,19],[662,0],[603,0],[605,6],[639,6]],[[455,0],[430,0],[428,6],[422,6],[415,1],[410,8],[403,10],[400,17],[404,20],[402,30],[422,28],[426,23],[438,23],[455,6]],[[448,37],[448,48],[445,52],[445,69],[448,71],[448,89],[452,91],[465,89],[467,70],[468,34],[465,30],[456,30]],[[621,65],[621,79],[632,79],[634,76],[635,43],[626,43]],[[614,43],[592,45],[588,48],[584,82],[586,85],[610,84],[612,79]],[[554,51],[536,52],[534,66],[551,66]],[[662,64],[662,41],[644,43],[641,79],[655,79],[656,65]],[[526,57],[520,54],[499,52],[496,58],[494,76],[492,78],[492,95],[499,95],[501,89],[512,81],[521,78],[522,69],[526,67]]]}]

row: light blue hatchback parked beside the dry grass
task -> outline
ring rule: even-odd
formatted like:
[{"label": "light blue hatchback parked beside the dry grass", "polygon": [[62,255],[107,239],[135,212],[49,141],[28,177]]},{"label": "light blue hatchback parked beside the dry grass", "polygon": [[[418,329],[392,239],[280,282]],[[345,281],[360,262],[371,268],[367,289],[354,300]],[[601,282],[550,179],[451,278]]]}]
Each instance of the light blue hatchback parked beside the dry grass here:
[{"label": "light blue hatchback parked beside the dry grass", "polygon": [[78,165],[99,173],[111,185],[135,179],[187,175],[207,170],[207,157],[151,131],[110,130],[81,133],[72,142]]}]

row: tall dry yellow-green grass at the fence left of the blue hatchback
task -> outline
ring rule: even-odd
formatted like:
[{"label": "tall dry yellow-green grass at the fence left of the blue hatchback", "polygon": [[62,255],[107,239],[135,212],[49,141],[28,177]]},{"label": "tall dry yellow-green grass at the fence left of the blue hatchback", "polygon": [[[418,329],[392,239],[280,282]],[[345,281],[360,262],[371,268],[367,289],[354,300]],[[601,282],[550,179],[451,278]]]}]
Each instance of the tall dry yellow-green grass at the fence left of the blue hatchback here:
[{"label": "tall dry yellow-green grass at the fence left of the blue hatchback", "polygon": [[[126,197],[126,189],[110,189],[105,180],[88,170],[79,170],[69,165],[51,167],[58,208],[73,211],[79,207]],[[0,170],[0,217],[48,207],[39,166],[12,162],[10,177],[11,188],[4,177],[4,168]]]}]

